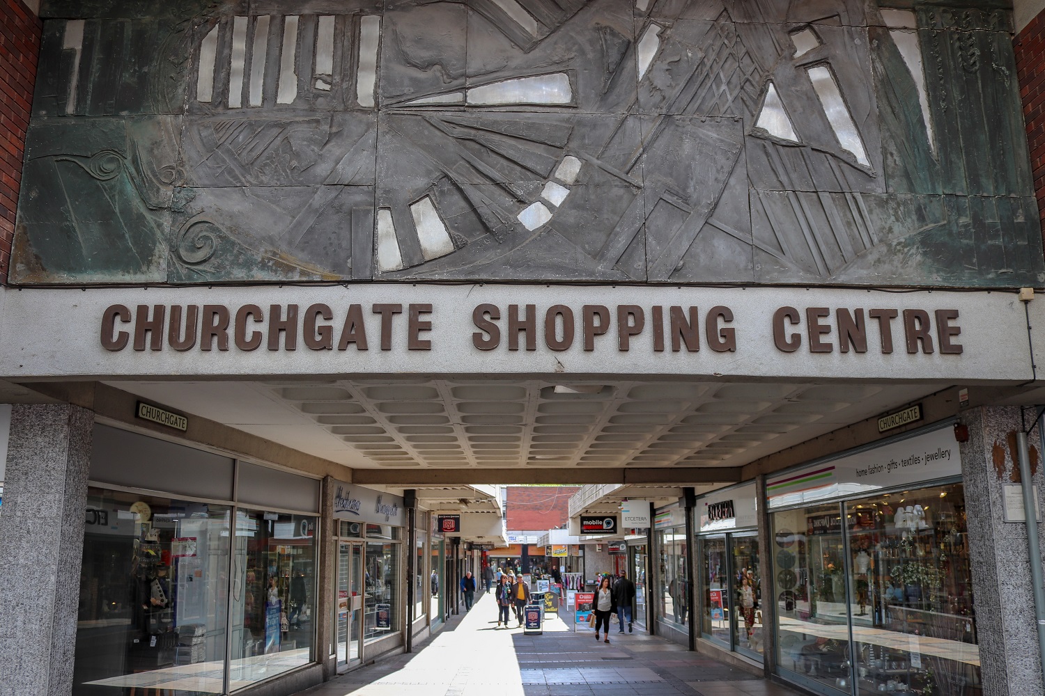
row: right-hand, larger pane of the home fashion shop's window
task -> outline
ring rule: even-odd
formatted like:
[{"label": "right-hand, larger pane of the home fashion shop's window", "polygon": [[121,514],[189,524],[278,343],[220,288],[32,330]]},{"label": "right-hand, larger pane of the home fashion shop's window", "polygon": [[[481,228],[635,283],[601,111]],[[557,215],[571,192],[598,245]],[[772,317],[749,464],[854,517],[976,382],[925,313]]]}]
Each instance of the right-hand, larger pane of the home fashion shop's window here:
[{"label": "right-hand, larger pane of the home fashion shop's window", "polygon": [[963,487],[854,501],[845,518],[860,692],[979,687]]}]

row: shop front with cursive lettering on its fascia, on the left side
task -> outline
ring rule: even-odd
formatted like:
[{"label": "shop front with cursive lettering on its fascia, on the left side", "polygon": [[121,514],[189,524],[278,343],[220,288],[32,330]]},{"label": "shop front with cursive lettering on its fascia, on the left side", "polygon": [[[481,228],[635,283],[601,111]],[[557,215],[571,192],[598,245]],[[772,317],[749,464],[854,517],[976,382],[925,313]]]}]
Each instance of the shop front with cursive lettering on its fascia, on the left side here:
[{"label": "shop front with cursive lettering on its fascia, on the left side", "polygon": [[339,481],[333,517],[339,530],[334,652],[338,669],[345,670],[384,652],[374,644],[397,633],[405,620],[405,513],[398,496]]}]

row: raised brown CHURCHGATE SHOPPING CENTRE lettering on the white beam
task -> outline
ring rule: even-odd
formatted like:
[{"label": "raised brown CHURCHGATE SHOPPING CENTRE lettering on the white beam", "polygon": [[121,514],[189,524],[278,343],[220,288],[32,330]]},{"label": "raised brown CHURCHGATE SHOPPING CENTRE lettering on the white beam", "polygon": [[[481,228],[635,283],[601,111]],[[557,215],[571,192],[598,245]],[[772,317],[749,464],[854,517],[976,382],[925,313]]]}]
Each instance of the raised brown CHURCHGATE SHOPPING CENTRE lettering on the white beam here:
[{"label": "raised brown CHURCHGATE SHOPPING CENTRE lettering on the white beam", "polygon": [[644,349],[654,353],[702,347],[733,353],[740,335],[752,332],[781,353],[963,353],[957,309],[899,306],[782,306],[767,326],[752,326],[727,305],[112,304],[100,314],[99,338],[114,353],[432,351],[436,322],[459,312],[470,313],[471,343],[480,351],[537,351],[539,343],[553,352],[591,352],[597,343],[609,342],[629,352],[646,337]]}]

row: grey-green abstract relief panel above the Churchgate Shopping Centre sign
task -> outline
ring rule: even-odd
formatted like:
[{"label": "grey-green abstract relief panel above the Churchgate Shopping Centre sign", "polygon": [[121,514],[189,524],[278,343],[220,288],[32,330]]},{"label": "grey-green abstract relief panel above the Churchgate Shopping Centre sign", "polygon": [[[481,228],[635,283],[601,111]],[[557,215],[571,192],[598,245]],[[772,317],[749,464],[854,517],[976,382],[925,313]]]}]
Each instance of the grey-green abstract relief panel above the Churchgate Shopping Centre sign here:
[{"label": "grey-green abstract relief panel above the Churchgate Shopping Centre sign", "polygon": [[1042,284],[1008,10],[887,4],[45,0],[10,278]]}]

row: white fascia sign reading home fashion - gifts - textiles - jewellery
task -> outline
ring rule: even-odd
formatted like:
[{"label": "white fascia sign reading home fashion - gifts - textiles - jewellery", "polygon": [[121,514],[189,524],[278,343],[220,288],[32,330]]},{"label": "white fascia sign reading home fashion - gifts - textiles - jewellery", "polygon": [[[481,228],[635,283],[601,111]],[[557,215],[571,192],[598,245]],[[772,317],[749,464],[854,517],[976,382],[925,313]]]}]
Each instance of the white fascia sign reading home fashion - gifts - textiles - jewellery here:
[{"label": "white fascia sign reading home fashion - gifts - textiles - jewellery", "polygon": [[766,496],[770,508],[781,508],[960,475],[954,429],[946,426],[776,474],[766,480]]}]

